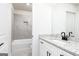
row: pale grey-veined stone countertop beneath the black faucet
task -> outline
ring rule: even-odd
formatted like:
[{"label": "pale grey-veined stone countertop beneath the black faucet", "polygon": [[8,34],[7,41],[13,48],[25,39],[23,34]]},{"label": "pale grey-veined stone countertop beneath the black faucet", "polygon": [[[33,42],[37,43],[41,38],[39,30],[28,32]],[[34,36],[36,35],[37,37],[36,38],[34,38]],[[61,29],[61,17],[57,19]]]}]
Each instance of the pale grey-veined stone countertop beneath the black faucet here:
[{"label": "pale grey-veined stone countertop beneath the black faucet", "polygon": [[39,38],[74,56],[79,56],[79,41],[64,41],[61,40],[60,37],[55,37],[53,35],[40,35]]}]

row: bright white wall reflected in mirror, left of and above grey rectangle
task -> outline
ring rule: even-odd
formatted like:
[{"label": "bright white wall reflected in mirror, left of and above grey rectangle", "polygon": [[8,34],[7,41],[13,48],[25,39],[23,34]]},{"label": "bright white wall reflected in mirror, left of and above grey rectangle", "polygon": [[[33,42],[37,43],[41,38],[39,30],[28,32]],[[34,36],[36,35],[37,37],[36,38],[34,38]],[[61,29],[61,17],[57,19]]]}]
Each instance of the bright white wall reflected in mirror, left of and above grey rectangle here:
[{"label": "bright white wall reflected in mirror, left of and above grey rectangle", "polygon": [[52,33],[66,32],[66,11],[76,12],[76,10],[72,4],[52,4]]}]

